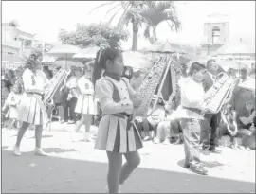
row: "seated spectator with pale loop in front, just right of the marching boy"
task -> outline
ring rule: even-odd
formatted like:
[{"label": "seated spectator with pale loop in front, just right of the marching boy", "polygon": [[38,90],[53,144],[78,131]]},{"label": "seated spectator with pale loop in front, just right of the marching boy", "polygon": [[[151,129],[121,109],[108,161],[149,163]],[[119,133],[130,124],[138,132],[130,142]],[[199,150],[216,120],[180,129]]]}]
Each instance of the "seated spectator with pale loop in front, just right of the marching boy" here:
[{"label": "seated spectator with pale loop in front, just right of the marching boy", "polygon": [[221,111],[221,123],[219,126],[218,138],[221,140],[224,134],[228,134],[230,136],[230,148],[236,149],[237,142],[235,142],[235,137],[237,132],[236,112],[232,110],[231,105],[228,104]]}]

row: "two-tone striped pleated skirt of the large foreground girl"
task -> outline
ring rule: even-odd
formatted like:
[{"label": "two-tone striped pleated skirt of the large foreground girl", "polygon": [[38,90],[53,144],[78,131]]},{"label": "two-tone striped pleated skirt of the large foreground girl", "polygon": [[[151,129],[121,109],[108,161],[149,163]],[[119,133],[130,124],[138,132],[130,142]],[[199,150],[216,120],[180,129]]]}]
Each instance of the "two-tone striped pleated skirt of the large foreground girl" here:
[{"label": "two-tone striped pleated skirt of the large foreground girl", "polygon": [[98,129],[95,149],[119,153],[133,152],[143,147],[137,129],[127,129],[128,118],[104,115]]}]

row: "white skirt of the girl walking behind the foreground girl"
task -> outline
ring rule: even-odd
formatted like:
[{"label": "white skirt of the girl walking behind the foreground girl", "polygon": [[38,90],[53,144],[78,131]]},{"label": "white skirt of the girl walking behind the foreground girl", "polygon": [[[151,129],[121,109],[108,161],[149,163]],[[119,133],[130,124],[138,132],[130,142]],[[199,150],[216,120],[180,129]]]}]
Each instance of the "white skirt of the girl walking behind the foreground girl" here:
[{"label": "white skirt of the girl walking behind the foreground girl", "polygon": [[75,112],[78,114],[97,114],[97,105],[92,95],[79,95]]}]

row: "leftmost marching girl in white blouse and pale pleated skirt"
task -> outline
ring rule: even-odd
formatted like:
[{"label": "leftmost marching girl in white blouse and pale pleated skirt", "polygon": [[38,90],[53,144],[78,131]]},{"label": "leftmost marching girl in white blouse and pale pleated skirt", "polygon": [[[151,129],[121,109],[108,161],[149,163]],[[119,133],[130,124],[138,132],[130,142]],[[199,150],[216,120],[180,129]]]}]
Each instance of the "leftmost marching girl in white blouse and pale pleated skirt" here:
[{"label": "leftmost marching girl in white blouse and pale pleated skirt", "polygon": [[[43,94],[48,84],[48,79],[42,69],[39,59],[42,55],[30,57],[27,62],[22,79],[24,83],[24,93],[18,110],[18,120],[22,121],[22,126],[17,135],[14,147],[14,155],[20,156],[20,143],[30,124],[35,125],[36,155],[46,155],[41,149],[43,125],[47,121],[46,106],[43,103]],[[36,59],[36,60],[35,60]]]}]

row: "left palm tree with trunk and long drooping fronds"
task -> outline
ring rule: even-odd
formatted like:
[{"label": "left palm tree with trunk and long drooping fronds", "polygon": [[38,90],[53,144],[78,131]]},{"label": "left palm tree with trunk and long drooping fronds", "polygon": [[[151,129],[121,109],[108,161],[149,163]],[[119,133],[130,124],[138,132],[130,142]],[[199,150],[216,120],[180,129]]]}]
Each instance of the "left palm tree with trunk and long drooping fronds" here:
[{"label": "left palm tree with trunk and long drooping fronds", "polygon": [[[120,11],[122,11],[120,17],[119,17],[119,28],[123,28],[124,26],[128,26],[130,23],[133,25],[133,45],[132,50],[137,50],[137,34],[138,34],[138,28],[141,26],[141,15],[139,14],[140,11],[142,11],[145,5],[145,1],[112,1],[105,4],[101,4],[101,6],[98,6],[95,9],[100,9],[104,6],[113,5],[111,9],[107,11],[106,14],[109,14],[110,12],[114,12],[114,14],[111,16],[109,20],[109,24],[112,23],[113,19],[117,17]],[[89,14],[95,10],[92,9]],[[114,11],[115,10],[115,11]]]}]

